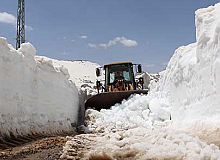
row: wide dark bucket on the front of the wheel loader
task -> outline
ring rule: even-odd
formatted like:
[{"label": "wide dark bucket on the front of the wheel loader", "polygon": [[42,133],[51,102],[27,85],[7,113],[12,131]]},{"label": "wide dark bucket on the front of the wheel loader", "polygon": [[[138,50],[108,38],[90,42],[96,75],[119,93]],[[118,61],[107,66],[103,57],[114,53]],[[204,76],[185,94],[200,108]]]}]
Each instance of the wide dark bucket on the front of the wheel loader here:
[{"label": "wide dark bucket on the front of the wheel loader", "polygon": [[132,94],[147,94],[147,90],[132,90],[118,92],[104,92],[92,96],[86,101],[85,109],[93,108],[100,111],[101,109],[110,109],[116,103],[121,103],[122,100],[128,99]]}]

